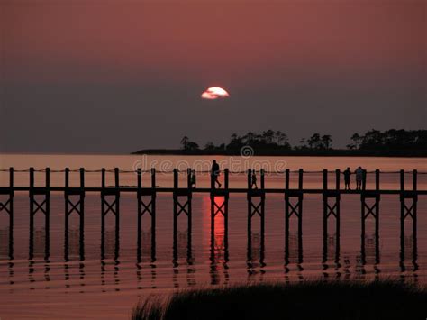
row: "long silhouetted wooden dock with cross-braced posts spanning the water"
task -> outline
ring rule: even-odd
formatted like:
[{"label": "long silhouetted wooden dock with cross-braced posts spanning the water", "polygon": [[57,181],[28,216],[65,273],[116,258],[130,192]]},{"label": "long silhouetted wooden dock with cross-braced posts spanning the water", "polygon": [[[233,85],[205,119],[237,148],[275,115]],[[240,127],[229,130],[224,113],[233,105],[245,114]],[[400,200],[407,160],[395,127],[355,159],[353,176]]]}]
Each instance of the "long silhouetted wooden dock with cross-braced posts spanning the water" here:
[{"label": "long silhouetted wooden dock with cross-braced posts spanning the water", "polygon": [[[179,215],[186,215],[187,217],[187,230],[188,230],[188,255],[191,256],[191,233],[192,233],[192,198],[195,193],[208,193],[211,198],[211,243],[214,242],[215,233],[215,216],[223,215],[224,223],[224,244],[228,247],[228,218],[229,218],[229,199],[232,194],[241,193],[247,195],[248,202],[248,249],[251,248],[252,239],[252,218],[256,215],[260,217],[260,250],[264,250],[265,238],[265,202],[268,194],[280,194],[284,199],[284,219],[285,219],[285,261],[289,261],[289,234],[290,234],[290,218],[295,216],[297,219],[297,238],[298,238],[298,261],[303,260],[303,203],[304,195],[306,194],[319,194],[323,197],[323,260],[328,259],[327,239],[328,239],[328,221],[334,219],[335,223],[335,259],[338,261],[340,255],[340,227],[341,227],[341,195],[359,195],[360,196],[360,219],[361,219],[361,254],[364,259],[365,252],[365,222],[371,216],[375,221],[375,246],[376,246],[376,259],[379,261],[379,224],[380,224],[380,210],[379,204],[382,195],[396,195],[400,198],[400,237],[401,237],[401,254],[404,257],[404,223],[409,220],[413,227],[413,255],[416,255],[416,241],[417,241],[417,203],[419,196],[427,195],[427,190],[419,190],[417,188],[417,177],[419,173],[417,170],[411,172],[399,171],[400,175],[400,189],[381,189],[380,177],[381,172],[375,170],[375,187],[368,189],[366,186],[367,172],[364,171],[362,179],[362,187],[360,190],[344,190],[341,188],[342,173],[339,169],[335,171],[328,171],[324,169],[323,173],[323,187],[322,188],[304,188],[304,170],[290,171],[286,169],[283,172],[283,188],[266,188],[265,187],[265,171],[260,170],[259,174],[259,188],[252,188],[252,171],[249,169],[247,173],[247,187],[231,188],[229,187],[229,170],[223,170],[223,188],[215,188],[214,180],[211,177],[211,187],[194,188],[191,185],[191,169],[187,169],[186,186],[180,187],[178,185],[178,170],[173,170],[173,187],[156,187],[156,170],[151,169],[150,174],[150,187],[142,187],[141,178],[142,171],[137,169],[135,173],[135,187],[124,187],[120,185],[120,173],[132,171],[120,171],[118,168],[114,169],[114,186],[107,187],[105,184],[105,175],[107,170],[100,169],[101,186],[100,187],[86,187],[85,173],[89,172],[85,169],[73,170],[78,172],[80,186],[69,187],[70,169],[64,170],[50,170],[49,168],[42,170],[35,170],[30,168],[25,170],[30,175],[30,184],[28,187],[14,186],[14,168],[7,170],[9,172],[9,185],[0,187],[0,211],[4,211],[9,216],[9,251],[11,258],[13,257],[13,243],[14,243],[14,193],[15,192],[28,192],[30,197],[30,259],[32,259],[32,244],[34,232],[34,215],[40,212],[44,215],[45,221],[45,237],[46,237],[46,257],[49,258],[49,245],[50,245],[50,195],[52,192],[63,193],[65,198],[65,247],[66,256],[68,248],[68,217],[72,213],[79,215],[79,234],[80,234],[80,254],[84,255],[84,230],[85,230],[85,196],[86,193],[99,193],[101,197],[101,242],[102,252],[104,252],[104,232],[105,232],[105,215],[112,214],[115,216],[115,238],[118,250],[120,239],[120,196],[123,193],[134,193],[138,199],[138,205],[135,208],[136,215],[138,216],[138,251],[141,258],[141,222],[143,215],[150,216],[150,229],[151,229],[151,258],[155,260],[156,257],[156,196],[159,193],[170,193],[173,197],[173,233],[174,233],[174,259],[177,259],[177,218]],[[34,173],[44,172],[45,184],[44,187],[37,187],[35,185]],[[23,172],[20,170],[20,172]],[[50,174],[52,172],[63,172],[65,175],[65,184],[63,187],[50,186]],[[90,171],[93,172],[93,171]],[[181,172],[182,173],[182,172]],[[281,173],[280,173],[281,174]],[[290,187],[290,178],[292,175],[297,175],[297,187]],[[335,177],[333,187],[328,186],[328,176],[332,174]],[[408,189],[404,185],[405,175],[412,176],[412,186]],[[422,174],[424,174],[422,172]],[[218,198],[223,200],[219,205],[216,201]],[[104,254],[104,253],[103,253]],[[250,260],[250,250],[248,250],[248,260]],[[262,259],[262,257],[261,257]]]}]

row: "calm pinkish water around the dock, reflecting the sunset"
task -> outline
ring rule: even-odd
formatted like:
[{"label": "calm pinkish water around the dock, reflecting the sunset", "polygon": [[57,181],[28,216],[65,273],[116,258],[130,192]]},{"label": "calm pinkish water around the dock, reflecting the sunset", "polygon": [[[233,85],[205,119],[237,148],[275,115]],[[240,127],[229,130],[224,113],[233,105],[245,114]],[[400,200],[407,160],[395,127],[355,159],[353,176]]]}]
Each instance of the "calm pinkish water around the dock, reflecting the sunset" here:
[{"label": "calm pinkish water around the dock, reflecting the sunset", "polygon": [[[155,165],[168,171],[175,166],[188,165],[198,170],[209,168],[213,157],[149,157],[116,155],[1,155],[0,168],[15,169],[34,167],[42,169],[142,169]],[[223,168],[234,171],[257,167],[262,164],[275,169],[364,169],[398,171],[399,169],[427,171],[426,160],[394,158],[320,158],[320,157],[252,157],[230,159],[215,157]],[[204,162],[204,160],[206,160]],[[275,165],[277,165],[275,167]],[[282,167],[285,165],[285,167]],[[36,184],[44,184],[44,173],[36,174]],[[16,173],[15,184],[28,186],[28,173]],[[368,176],[368,187],[373,175]],[[158,174],[157,185],[172,185],[171,174]],[[182,175],[180,183],[185,183]],[[230,187],[245,187],[244,174],[232,174]],[[99,172],[86,173],[86,186],[99,186]],[[334,177],[331,177],[331,187]],[[63,186],[64,174],[52,173],[52,186]],[[149,184],[143,175],[143,185]],[[407,185],[410,187],[408,175]],[[293,178],[292,186],[296,179]],[[399,176],[387,173],[381,176],[381,188],[398,189]],[[0,185],[7,186],[8,174],[0,173]],[[107,184],[114,184],[109,173]],[[78,174],[71,177],[71,185],[78,185]],[[121,174],[120,185],[136,185],[133,173]],[[197,176],[198,187],[208,187],[206,174]],[[184,185],[182,185],[184,186]],[[266,176],[266,187],[283,187],[284,177]],[[322,187],[321,173],[304,174],[304,187]],[[418,188],[427,188],[427,175],[419,176]],[[2,198],[3,200],[4,198]],[[330,259],[323,263],[323,202],[322,196],[304,197],[303,261],[297,261],[295,221],[291,225],[290,263],[285,265],[285,219],[283,196],[268,195],[266,200],[265,252],[259,250],[259,221],[254,220],[251,261],[247,261],[247,202],[245,195],[234,195],[229,208],[229,245],[224,247],[223,221],[217,216],[213,254],[210,242],[210,198],[195,194],[193,199],[193,234],[191,257],[186,247],[186,216],[178,223],[177,253],[173,259],[172,196],[161,194],[157,198],[156,260],[151,261],[150,224],[145,216],[142,225],[141,261],[137,257],[137,201],[134,194],[121,197],[120,246],[114,236],[114,216],[107,215],[104,257],[101,252],[100,197],[86,195],[85,251],[80,257],[78,218],[70,216],[69,251],[64,251],[64,198],[53,193],[50,208],[50,255],[46,257],[43,216],[36,215],[34,257],[29,260],[29,198],[28,193],[16,193],[14,202],[14,260],[9,259],[8,220],[0,212],[0,317],[9,318],[126,318],[140,297],[152,293],[169,292],[176,288],[217,286],[257,281],[300,281],[304,279],[375,279],[397,277],[427,284],[427,197],[418,203],[418,255],[412,256],[412,233],[406,225],[406,256],[400,261],[400,203],[398,196],[383,196],[380,203],[380,260],[375,260],[374,227],[367,224],[366,262],[360,259],[360,197],[341,197],[341,255],[338,263]],[[146,220],[147,219],[147,220]],[[332,226],[332,225],[331,225]],[[329,248],[334,251],[333,227],[329,234]],[[228,254],[226,254],[228,253]],[[264,254],[264,259],[260,257]],[[333,257],[333,254],[329,256]],[[48,258],[48,259],[46,259]],[[84,258],[84,259],[80,259]],[[104,258],[104,259],[103,259]],[[377,261],[378,262],[378,261]],[[402,262],[402,263],[401,263]]]}]

